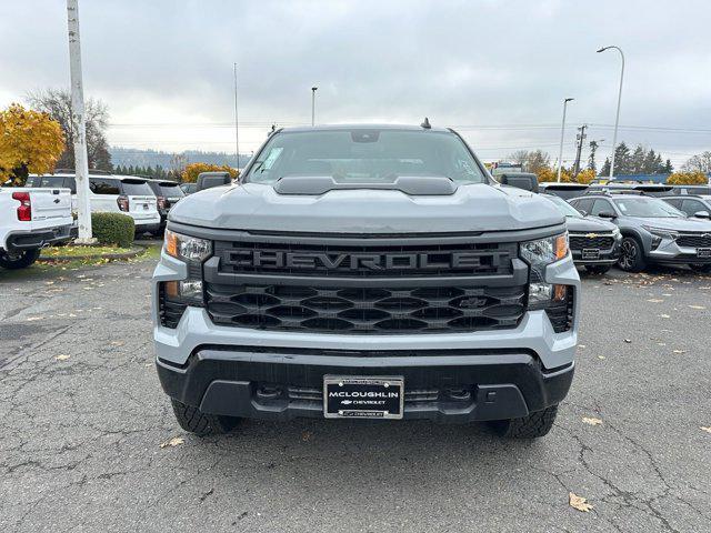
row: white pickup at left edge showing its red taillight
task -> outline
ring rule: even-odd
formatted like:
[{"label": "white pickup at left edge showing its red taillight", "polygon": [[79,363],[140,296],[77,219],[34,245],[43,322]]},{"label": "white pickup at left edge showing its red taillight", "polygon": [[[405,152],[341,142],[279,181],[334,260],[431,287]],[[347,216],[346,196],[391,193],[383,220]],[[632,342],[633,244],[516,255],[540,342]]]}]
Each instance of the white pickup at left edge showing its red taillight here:
[{"label": "white pickup at left edge showing its red taillight", "polygon": [[23,269],[40,250],[69,239],[69,189],[0,188],[0,266]]}]

